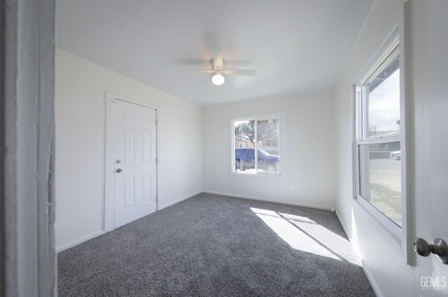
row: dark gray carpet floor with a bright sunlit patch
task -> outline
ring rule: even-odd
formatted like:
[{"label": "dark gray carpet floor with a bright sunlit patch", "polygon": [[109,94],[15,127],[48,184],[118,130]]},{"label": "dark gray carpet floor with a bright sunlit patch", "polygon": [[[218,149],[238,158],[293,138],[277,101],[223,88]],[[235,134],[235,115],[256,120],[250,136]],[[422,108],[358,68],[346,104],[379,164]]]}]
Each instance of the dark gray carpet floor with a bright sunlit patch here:
[{"label": "dark gray carpet floor with a bright sunlit patch", "polygon": [[333,212],[202,193],[58,254],[58,296],[374,296]]}]

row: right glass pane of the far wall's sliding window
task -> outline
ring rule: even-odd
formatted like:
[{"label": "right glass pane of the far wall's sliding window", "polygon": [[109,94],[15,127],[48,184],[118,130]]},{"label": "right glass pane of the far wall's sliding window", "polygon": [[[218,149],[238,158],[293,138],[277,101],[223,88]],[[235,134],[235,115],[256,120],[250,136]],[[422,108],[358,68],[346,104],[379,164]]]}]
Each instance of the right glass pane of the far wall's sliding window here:
[{"label": "right glass pane of the far wall's sliding window", "polygon": [[279,172],[279,119],[257,120],[259,172]]}]

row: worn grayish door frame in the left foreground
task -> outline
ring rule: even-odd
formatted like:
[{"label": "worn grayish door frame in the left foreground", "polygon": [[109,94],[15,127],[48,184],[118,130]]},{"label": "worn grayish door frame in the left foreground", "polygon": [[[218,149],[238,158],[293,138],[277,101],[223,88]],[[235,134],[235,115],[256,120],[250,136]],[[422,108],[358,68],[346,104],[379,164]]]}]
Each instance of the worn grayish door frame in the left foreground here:
[{"label": "worn grayish door frame in the left foreground", "polygon": [[0,296],[56,296],[55,1],[0,19]]}]

